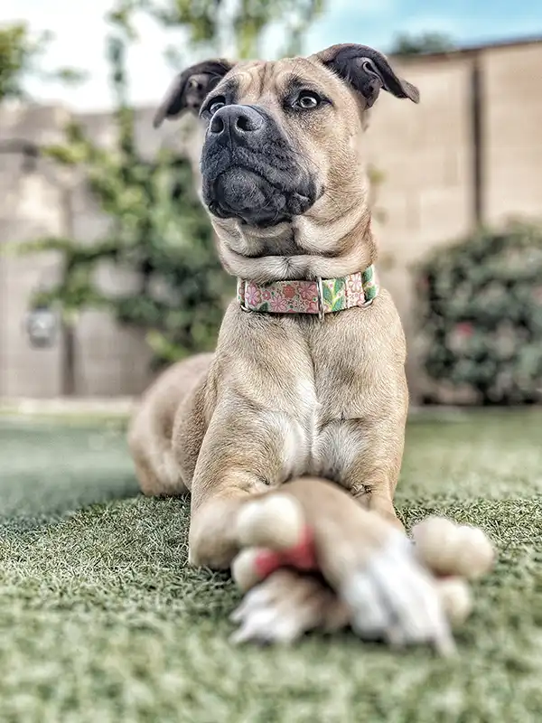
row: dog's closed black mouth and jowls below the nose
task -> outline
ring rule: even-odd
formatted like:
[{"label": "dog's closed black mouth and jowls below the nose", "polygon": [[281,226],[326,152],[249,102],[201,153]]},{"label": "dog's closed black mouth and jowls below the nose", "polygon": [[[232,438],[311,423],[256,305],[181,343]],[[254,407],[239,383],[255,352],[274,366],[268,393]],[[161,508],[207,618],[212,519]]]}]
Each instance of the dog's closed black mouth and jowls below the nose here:
[{"label": "dog's closed black mouth and jowls below the nose", "polygon": [[308,211],[318,197],[316,183],[293,155],[280,150],[204,147],[201,190],[210,213],[269,228]]}]

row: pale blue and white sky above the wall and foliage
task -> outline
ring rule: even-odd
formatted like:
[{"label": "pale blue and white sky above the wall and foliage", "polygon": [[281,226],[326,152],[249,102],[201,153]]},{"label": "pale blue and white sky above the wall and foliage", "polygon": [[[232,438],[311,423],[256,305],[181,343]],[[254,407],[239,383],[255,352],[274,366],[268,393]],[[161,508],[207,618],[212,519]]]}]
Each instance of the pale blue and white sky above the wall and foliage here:
[{"label": "pale blue and white sky above the wall and foliage", "polygon": [[[0,24],[24,21],[33,33],[54,34],[43,58],[45,69],[90,71],[89,80],[76,89],[30,80],[27,89],[34,99],[83,111],[109,108],[104,14],[110,6],[111,0],[0,0]],[[327,6],[306,36],[305,52],[336,42],[360,42],[386,52],[397,33],[425,31],[447,33],[460,45],[542,37],[542,0],[327,0]],[[129,56],[130,97],[136,105],[155,105],[173,77],[164,49],[171,42],[182,47],[182,37],[149,21],[138,28],[140,42]],[[266,57],[273,57],[279,38],[280,28],[273,28]]]}]

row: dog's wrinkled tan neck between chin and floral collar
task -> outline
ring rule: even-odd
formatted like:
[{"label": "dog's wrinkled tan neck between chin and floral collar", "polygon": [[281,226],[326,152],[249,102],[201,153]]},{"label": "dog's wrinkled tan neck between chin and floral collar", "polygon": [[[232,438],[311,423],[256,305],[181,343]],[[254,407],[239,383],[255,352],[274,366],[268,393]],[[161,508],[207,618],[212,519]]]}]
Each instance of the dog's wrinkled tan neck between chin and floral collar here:
[{"label": "dog's wrinkled tan neck between chin and floral collar", "polygon": [[224,268],[257,284],[347,277],[377,260],[365,204],[325,224],[307,216],[264,230],[221,222],[214,226]]}]

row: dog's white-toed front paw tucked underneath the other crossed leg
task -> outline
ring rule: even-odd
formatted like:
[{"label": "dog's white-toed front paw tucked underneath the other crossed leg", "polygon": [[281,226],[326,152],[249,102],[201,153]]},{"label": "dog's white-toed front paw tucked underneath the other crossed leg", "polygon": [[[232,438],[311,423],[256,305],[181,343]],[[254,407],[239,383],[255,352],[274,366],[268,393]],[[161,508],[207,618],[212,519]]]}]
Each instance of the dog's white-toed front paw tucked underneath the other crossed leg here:
[{"label": "dog's white-toed front paw tucked underneath the other crossed leg", "polygon": [[252,588],[231,619],[239,624],[233,643],[287,644],[317,628],[339,630],[349,611],[322,580],[281,569]]}]

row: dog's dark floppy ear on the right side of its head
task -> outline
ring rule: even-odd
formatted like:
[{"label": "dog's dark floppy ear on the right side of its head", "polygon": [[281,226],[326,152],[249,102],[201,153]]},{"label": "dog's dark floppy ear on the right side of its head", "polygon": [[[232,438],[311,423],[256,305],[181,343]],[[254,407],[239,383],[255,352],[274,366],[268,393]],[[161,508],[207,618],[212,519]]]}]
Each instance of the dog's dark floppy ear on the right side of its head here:
[{"label": "dog's dark floppy ear on the right side of its head", "polygon": [[386,56],[368,45],[332,45],[314,57],[360,92],[367,108],[374,104],[380,89],[388,90],[397,98],[408,98],[414,103],[420,101],[416,86],[399,78]]}]

